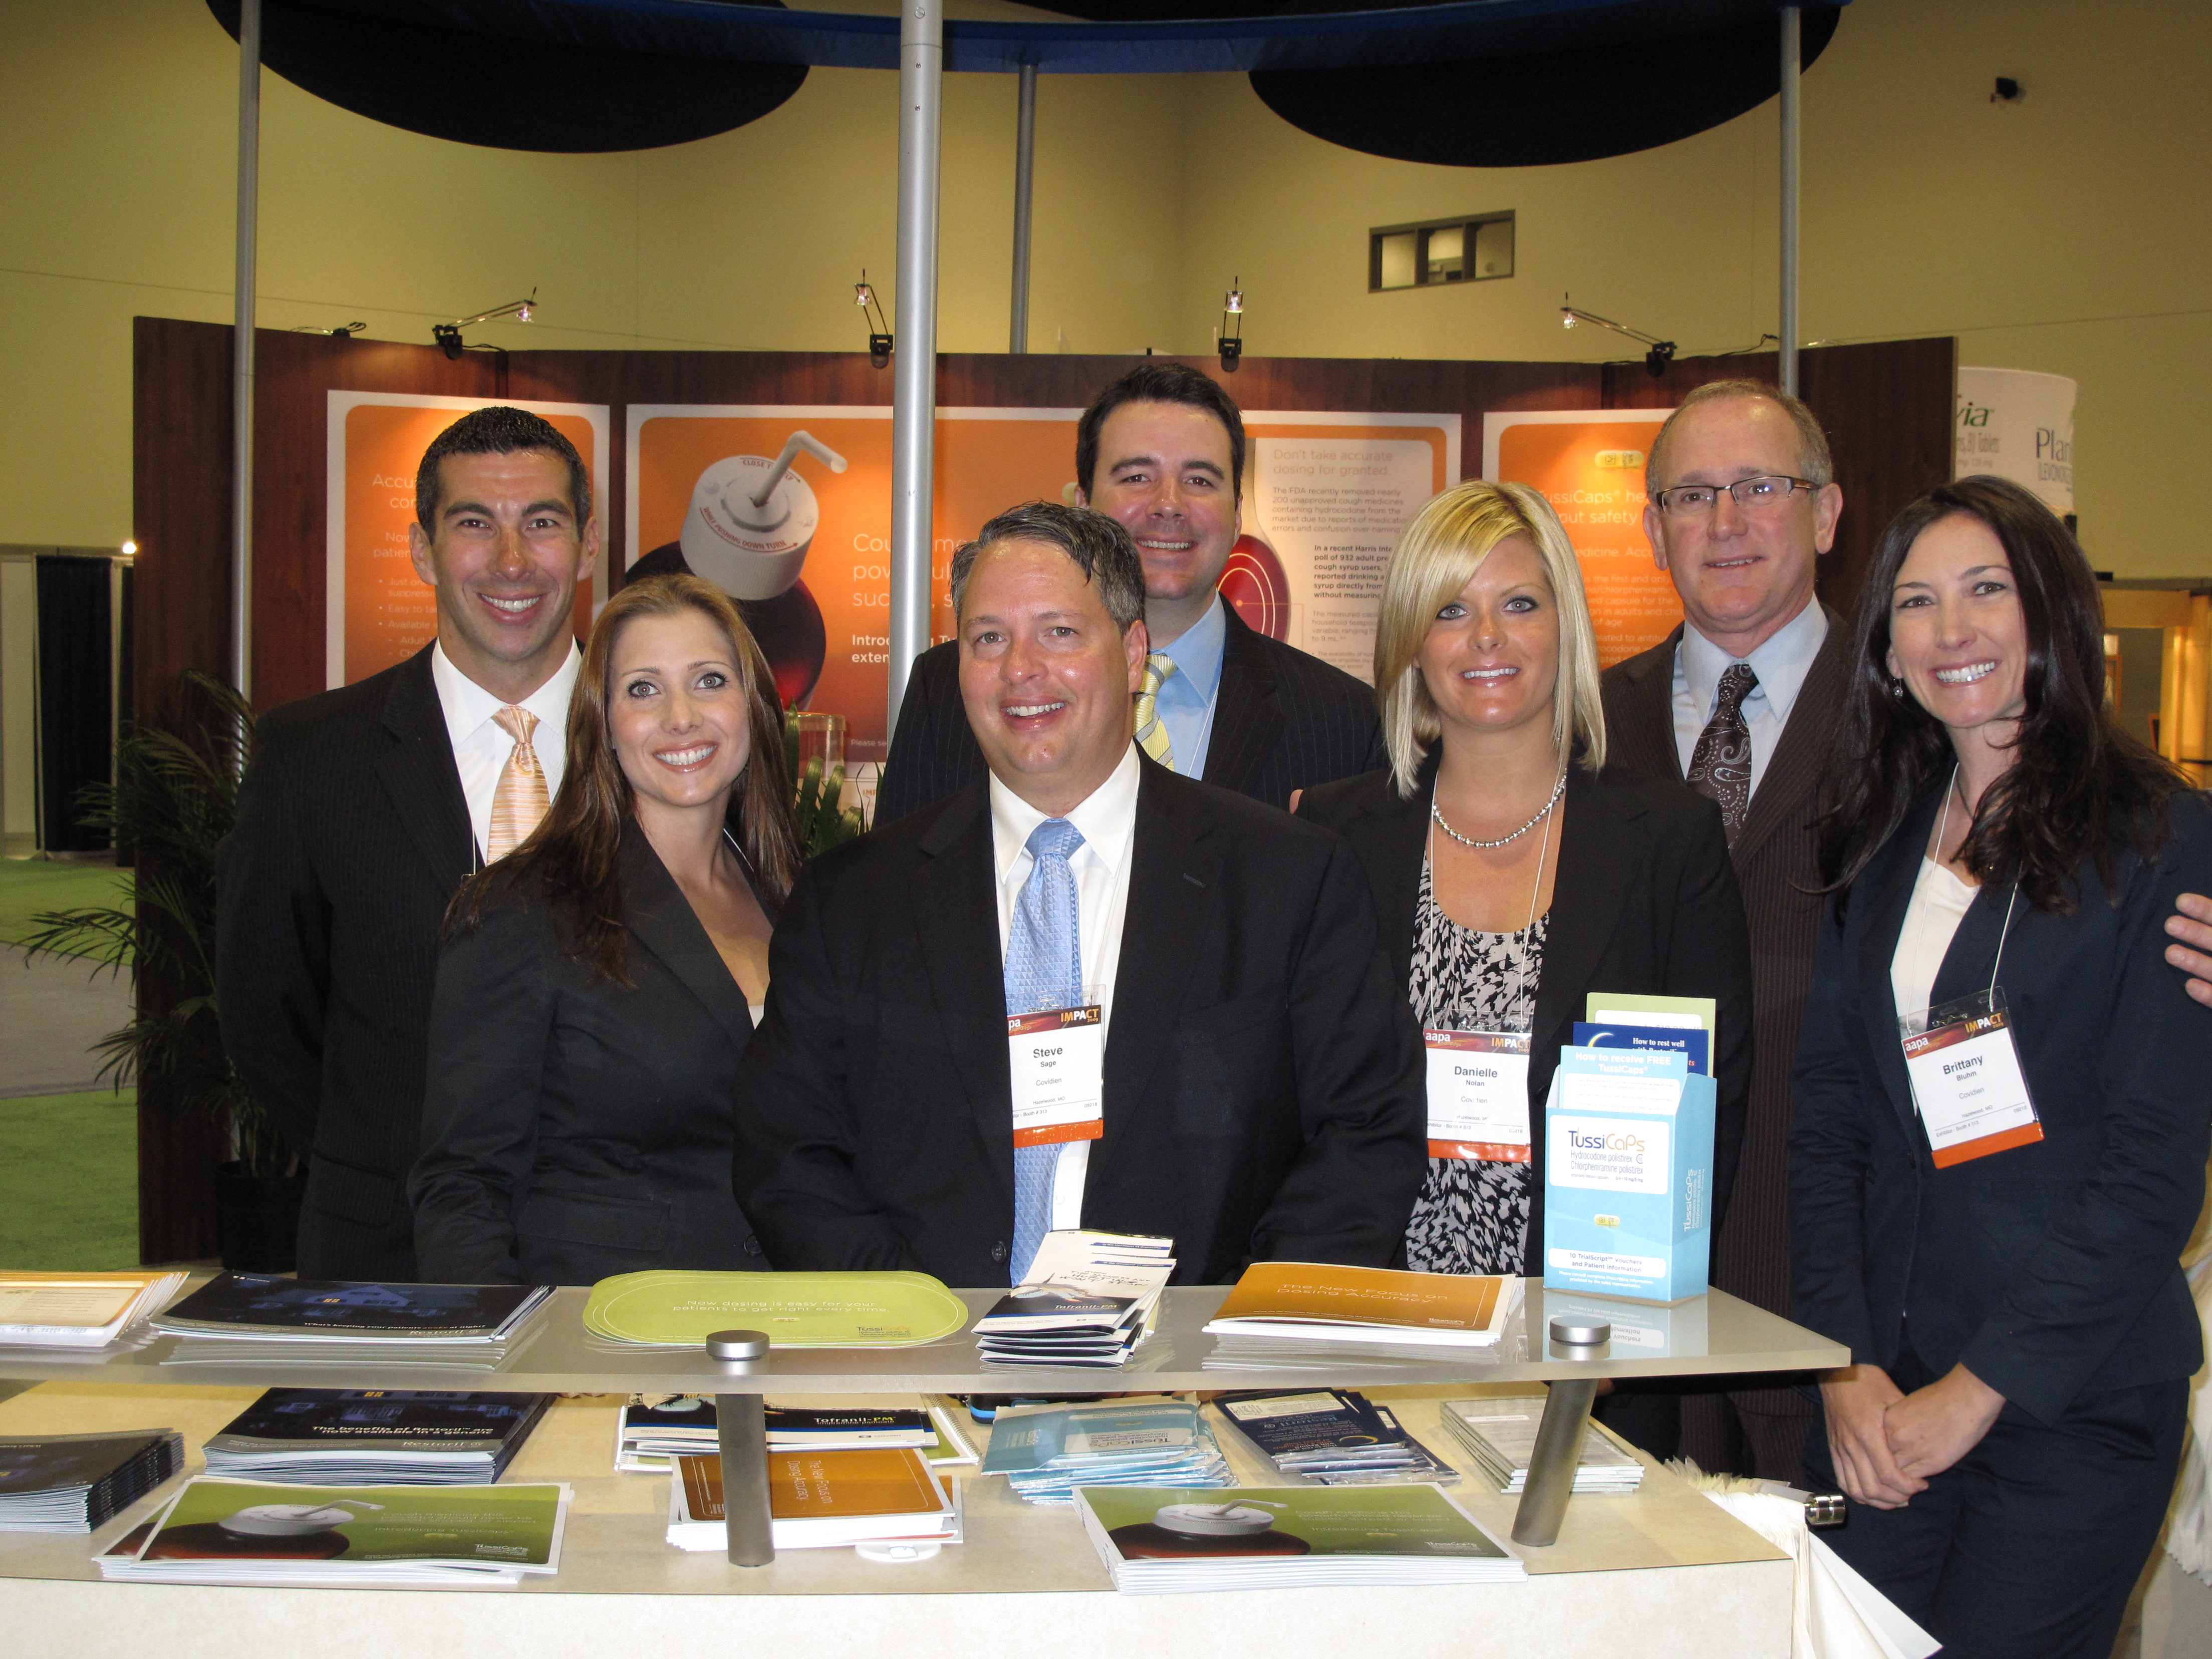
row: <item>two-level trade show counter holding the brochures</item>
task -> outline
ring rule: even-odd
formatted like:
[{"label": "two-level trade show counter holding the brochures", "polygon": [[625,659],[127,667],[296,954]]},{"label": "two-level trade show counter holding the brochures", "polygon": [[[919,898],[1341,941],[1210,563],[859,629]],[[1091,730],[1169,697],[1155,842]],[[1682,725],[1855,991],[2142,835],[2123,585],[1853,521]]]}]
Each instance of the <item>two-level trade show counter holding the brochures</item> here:
[{"label": "two-level trade show counter holding the brochures", "polygon": [[[969,1294],[971,1307],[1000,1292]],[[1389,1400],[1405,1427],[1467,1478],[1453,1498],[1506,1540],[1515,1500],[1471,1473],[1471,1460],[1438,1425],[1438,1400],[1517,1394],[1540,1409],[1535,1383],[1559,1376],[1816,1369],[1840,1363],[1834,1345],[1719,1292],[1670,1310],[1621,1303],[1630,1343],[1619,1358],[1531,1358],[1526,1329],[1544,1329],[1544,1296],[1531,1287],[1524,1318],[1500,1349],[1451,1360],[1343,1358],[1325,1371],[1208,1369],[1212,1338],[1199,1334],[1221,1290],[1170,1292],[1161,1334],[1124,1371],[1035,1371],[1009,1378],[975,1363],[958,1334],[907,1349],[779,1349],[741,1387],[776,1400],[825,1400],[891,1391],[1183,1391],[1270,1389],[1334,1383]],[[1498,1586],[1305,1588],[1115,1595],[1106,1568],[1066,1509],[1022,1504],[1004,1480],[964,1471],[967,1542],[909,1564],[878,1564],[847,1548],[781,1551],[765,1566],[684,1553],[664,1542],[666,1475],[613,1473],[622,1396],[726,1394],[732,1367],[703,1356],[615,1349],[582,1332],[584,1292],[560,1292],[540,1334],[495,1371],[414,1363],[303,1365],[252,1356],[219,1371],[166,1358],[168,1338],[122,1354],[53,1358],[0,1354],[0,1376],[42,1378],[0,1402],[0,1436],[175,1427],[186,1469],[201,1442],[261,1387],[411,1387],[560,1391],[507,1480],[566,1480],[575,1491],[555,1577],[515,1590],[310,1590],[104,1584],[93,1555],[148,1515],[173,1489],[142,1500],[100,1533],[0,1533],[0,1608],[20,1652],[102,1648],[128,1619],[133,1646],[166,1655],[606,1652],[633,1644],[717,1644],[743,1650],[967,1659],[978,1646],[1051,1650],[1055,1659],[1219,1646],[1343,1659],[1347,1646],[1425,1655],[1774,1655],[1790,1652],[1792,1564],[1717,1504],[1663,1469],[1648,1467],[1632,1495],[1582,1495],[1559,1542],[1520,1548],[1528,1582]],[[1588,1298],[1575,1298],[1577,1307]],[[1644,1340],[1646,1347],[1637,1347]],[[1241,1484],[1283,1478],[1239,1436],[1223,1453]],[[962,1471],[956,1471],[962,1473]],[[436,1606],[422,1597],[445,1597]],[[728,1601],[748,1597],[732,1630]],[[1020,1601],[1004,1597],[1020,1595]],[[894,1597],[894,1599],[885,1599]],[[20,1644],[20,1646],[18,1646]]]}]

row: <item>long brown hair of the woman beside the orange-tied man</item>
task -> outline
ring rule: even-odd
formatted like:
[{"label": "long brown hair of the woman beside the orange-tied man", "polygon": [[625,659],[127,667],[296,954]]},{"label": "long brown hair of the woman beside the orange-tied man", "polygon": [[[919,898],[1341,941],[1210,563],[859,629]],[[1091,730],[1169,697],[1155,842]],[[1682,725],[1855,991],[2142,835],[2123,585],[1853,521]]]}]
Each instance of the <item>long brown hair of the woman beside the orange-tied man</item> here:
[{"label": "long brown hair of the woman beside the orange-tied man", "polygon": [[451,920],[473,927],[484,905],[529,896],[553,909],[562,949],[606,980],[628,984],[622,922],[622,825],[635,794],[608,732],[608,672],[615,641],[637,617],[697,611],[730,641],[745,690],[750,754],[730,790],[728,825],[752,867],[761,898],[774,911],[799,878],[799,830],[792,821],[792,774],[783,757],[783,710],[768,659],[737,606],[697,575],[653,575],[606,602],[584,646],[584,668],[568,697],[568,765],[560,794],[531,836],[507,858],[480,869],[453,898]]}]

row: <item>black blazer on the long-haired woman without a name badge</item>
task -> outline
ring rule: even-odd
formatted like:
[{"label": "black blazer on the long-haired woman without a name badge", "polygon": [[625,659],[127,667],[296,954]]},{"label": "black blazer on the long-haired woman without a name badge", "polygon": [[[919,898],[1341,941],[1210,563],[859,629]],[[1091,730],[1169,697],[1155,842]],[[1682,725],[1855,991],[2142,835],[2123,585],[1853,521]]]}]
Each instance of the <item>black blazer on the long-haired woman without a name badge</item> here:
[{"label": "black blazer on the long-haired woman without a name badge", "polygon": [[628,984],[562,951],[540,900],[502,896],[445,942],[407,1181],[425,1281],[768,1267],[723,1179],[752,1015],[635,818],[622,920]]}]

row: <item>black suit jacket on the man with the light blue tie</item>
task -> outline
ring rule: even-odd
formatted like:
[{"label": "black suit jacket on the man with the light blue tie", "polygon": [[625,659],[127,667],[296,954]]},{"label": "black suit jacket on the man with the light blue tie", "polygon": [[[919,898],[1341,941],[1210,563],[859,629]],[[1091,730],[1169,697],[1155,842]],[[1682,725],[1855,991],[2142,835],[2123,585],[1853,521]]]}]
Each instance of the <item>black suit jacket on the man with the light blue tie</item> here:
[{"label": "black suit jacket on the man with the light blue tie", "polygon": [[[1144,761],[1082,1221],[1177,1283],[1387,1265],[1422,1177],[1420,1033],[1332,834]],[[779,1267],[1004,1285],[1006,1002],[982,783],[814,860],[737,1077],[737,1192]]]}]

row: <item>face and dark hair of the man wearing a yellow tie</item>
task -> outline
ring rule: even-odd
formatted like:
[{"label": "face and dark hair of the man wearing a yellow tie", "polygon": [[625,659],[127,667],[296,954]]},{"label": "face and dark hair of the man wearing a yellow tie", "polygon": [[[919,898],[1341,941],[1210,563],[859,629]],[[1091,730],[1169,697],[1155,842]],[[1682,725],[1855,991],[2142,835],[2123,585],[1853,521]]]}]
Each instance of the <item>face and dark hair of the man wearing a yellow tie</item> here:
[{"label": "face and dark hair of the man wearing a yellow tie", "polygon": [[1237,546],[1228,429],[1188,403],[1124,403],[1099,427],[1084,504],[1121,520],[1137,540],[1146,615],[1166,602],[1194,619]]}]

